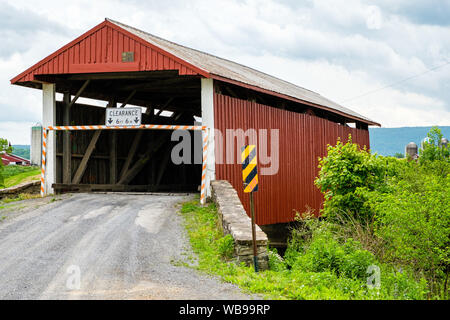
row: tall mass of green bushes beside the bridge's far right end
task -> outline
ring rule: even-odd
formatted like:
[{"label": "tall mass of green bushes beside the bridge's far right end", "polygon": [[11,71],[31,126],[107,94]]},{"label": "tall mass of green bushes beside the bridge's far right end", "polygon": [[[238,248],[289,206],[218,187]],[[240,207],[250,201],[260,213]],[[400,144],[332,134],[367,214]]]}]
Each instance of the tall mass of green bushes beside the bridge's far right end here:
[{"label": "tall mass of green bushes beside the bridge's far right end", "polygon": [[[325,197],[323,216],[341,243],[357,239],[378,261],[408,270],[407,276],[390,276],[396,279],[399,296],[405,295],[397,283],[403,281],[408,294],[415,292],[411,297],[428,291],[429,298],[445,299],[450,272],[450,161],[448,148],[438,143],[440,130],[433,128],[428,137],[417,162],[379,157],[351,140],[338,141],[320,159],[316,184]],[[321,256],[310,261],[304,257],[306,265],[317,268],[321,261],[336,271],[343,259],[349,266],[343,262],[340,272],[350,277],[363,275],[364,262],[370,260],[365,251],[358,249],[342,258],[339,242],[321,241],[312,245],[322,246]]]}]

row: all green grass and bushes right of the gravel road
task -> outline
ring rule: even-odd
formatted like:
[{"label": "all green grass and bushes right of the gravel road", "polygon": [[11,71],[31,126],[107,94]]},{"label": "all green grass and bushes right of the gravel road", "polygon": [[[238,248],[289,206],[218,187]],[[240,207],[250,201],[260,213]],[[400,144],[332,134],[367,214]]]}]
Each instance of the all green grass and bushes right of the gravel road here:
[{"label": "all green grass and bushes right of the gravel road", "polygon": [[438,128],[419,161],[381,157],[338,141],[320,159],[321,218],[298,213],[288,248],[270,269],[232,259],[214,204],[181,209],[196,268],[268,299],[448,299],[449,149]]}]

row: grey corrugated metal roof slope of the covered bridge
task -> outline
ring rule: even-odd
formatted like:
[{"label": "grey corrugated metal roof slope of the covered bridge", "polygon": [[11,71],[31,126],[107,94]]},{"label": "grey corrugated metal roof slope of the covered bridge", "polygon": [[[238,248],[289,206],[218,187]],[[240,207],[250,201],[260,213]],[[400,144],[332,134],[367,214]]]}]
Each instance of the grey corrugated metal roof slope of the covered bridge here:
[{"label": "grey corrugated metal roof slope of the covered bridge", "polygon": [[107,21],[125,29],[126,31],[155,46],[160,47],[176,57],[209,72],[212,75],[217,75],[219,77],[238,81],[250,86],[280,93],[306,102],[311,102],[319,106],[331,108],[346,115],[365,120],[365,122],[369,122],[370,124],[378,125],[378,123],[360,115],[359,113],[345,108],[311,90],[299,87],[295,84],[270,76],[264,72],[239,63],[179,45],[126,24],[111,19],[107,19]]}]

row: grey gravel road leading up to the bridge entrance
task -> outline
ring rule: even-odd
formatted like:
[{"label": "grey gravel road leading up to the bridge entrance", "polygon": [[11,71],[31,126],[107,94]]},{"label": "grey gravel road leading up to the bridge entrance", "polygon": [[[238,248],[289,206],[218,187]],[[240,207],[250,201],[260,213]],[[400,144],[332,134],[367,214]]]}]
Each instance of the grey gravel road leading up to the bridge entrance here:
[{"label": "grey gravel road leading up to the bridge entrance", "polygon": [[[179,266],[190,196],[74,194],[0,222],[0,299],[249,299]],[[39,201],[36,199],[35,201]]]}]

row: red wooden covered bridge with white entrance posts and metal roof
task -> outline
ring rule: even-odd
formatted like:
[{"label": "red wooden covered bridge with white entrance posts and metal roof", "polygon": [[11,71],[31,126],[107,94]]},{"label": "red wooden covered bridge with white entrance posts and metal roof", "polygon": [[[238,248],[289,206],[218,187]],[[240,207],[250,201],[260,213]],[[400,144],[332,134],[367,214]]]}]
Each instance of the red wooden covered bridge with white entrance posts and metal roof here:
[{"label": "red wooden covered bridge with white entrance posts and metal roof", "polygon": [[[379,125],[313,91],[109,19],[11,83],[42,90],[44,127],[105,124],[104,106],[78,103],[79,97],[142,107],[143,124],[201,121],[209,129],[206,194],[211,180],[228,180],[247,212],[240,147],[256,141],[260,152],[278,155],[277,170],[270,172],[264,169],[274,168],[274,158],[264,163],[260,154],[259,225],[293,221],[306,208],[318,212],[323,197],[314,178],[327,144],[351,134],[369,147],[368,126]],[[197,192],[198,134],[190,132],[192,142],[200,142],[192,145],[192,162],[176,164],[171,150],[178,141],[171,141],[170,131],[50,131],[46,189]],[[194,161],[198,154],[200,162]]]}]

